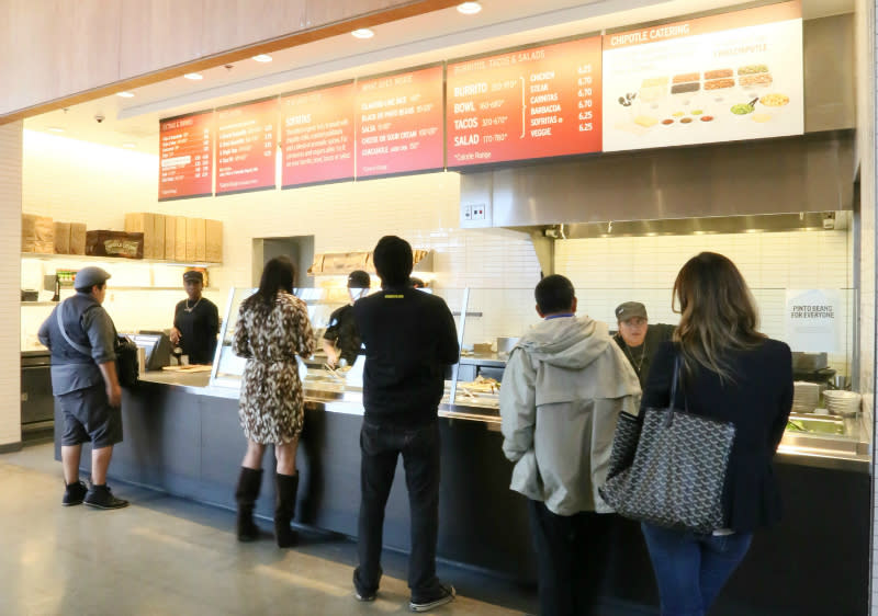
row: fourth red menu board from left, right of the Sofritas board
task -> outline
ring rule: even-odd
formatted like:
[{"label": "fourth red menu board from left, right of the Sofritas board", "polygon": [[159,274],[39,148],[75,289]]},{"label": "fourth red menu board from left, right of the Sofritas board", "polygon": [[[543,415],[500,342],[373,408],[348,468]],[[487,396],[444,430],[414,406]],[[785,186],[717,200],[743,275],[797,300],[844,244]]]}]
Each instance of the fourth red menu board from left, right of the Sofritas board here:
[{"label": "fourth red menu board from left, right of the Sofritas board", "polygon": [[357,81],[357,178],[442,169],[442,66]]}]

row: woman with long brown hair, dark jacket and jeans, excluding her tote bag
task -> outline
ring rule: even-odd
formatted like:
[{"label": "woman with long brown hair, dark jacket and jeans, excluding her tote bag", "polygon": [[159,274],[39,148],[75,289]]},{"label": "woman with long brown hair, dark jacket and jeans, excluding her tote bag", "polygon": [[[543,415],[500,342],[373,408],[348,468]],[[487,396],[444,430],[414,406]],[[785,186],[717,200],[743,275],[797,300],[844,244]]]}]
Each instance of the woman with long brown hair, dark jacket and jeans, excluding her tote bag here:
[{"label": "woman with long brown hair, dark jacket and jeans, excluding her tote bag", "polygon": [[703,616],[746,555],[753,532],[780,518],[772,458],[792,407],[792,356],[785,343],[756,330],[750,289],[721,254],[702,252],[683,266],[674,283],[674,310],[682,315],[679,327],[655,355],[641,415],[651,408],[686,409],[733,425],[734,441],[717,528],[643,522],[642,531],[662,615]]}]

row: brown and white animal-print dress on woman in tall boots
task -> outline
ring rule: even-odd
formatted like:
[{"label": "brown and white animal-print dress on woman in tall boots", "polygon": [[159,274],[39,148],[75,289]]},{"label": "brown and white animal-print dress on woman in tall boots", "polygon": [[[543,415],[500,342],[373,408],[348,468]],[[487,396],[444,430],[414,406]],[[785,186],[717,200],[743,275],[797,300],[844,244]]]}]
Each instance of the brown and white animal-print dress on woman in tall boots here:
[{"label": "brown and white animal-print dress on woman in tall boots", "polygon": [[295,356],[314,353],[305,303],[280,292],[274,305],[245,301],[233,350],[247,357],[240,389],[240,424],[256,443],[289,443],[302,432],[302,381]]}]

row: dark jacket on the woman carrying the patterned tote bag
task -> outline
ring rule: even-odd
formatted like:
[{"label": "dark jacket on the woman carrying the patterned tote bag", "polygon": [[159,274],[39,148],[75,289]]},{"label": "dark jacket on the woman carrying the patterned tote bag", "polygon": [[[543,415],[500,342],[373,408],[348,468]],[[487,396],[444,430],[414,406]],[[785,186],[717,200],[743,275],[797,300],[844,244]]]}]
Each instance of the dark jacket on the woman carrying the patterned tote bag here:
[{"label": "dark jacket on the woman carrying the patterned tote bag", "polygon": [[[676,350],[658,347],[643,390],[641,417],[649,407],[666,408]],[[733,352],[735,383],[701,368],[684,379],[685,402],[693,413],[734,423],[734,445],[723,495],[727,526],[747,533],[780,520],[780,491],[772,464],[792,408],[792,355],[789,346],[767,339],[758,347]],[[684,408],[678,391],[676,407]]]}]

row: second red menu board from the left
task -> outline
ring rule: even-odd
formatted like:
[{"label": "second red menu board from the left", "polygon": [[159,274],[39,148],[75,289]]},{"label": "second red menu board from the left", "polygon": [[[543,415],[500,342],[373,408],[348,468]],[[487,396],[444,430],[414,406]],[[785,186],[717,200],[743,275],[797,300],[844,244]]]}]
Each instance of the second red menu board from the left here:
[{"label": "second red menu board from the left", "polygon": [[278,99],[216,110],[216,194],[275,186]]}]

